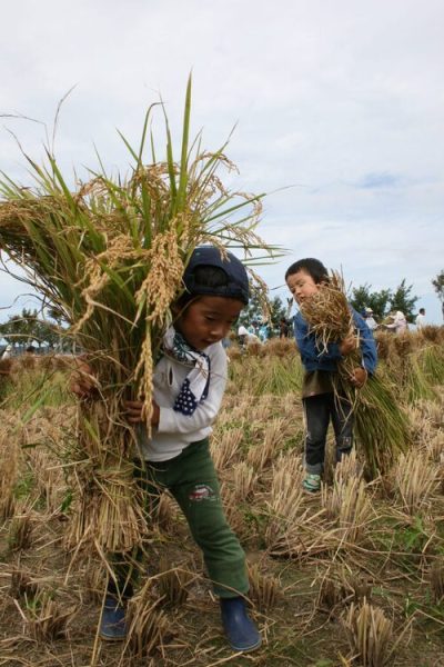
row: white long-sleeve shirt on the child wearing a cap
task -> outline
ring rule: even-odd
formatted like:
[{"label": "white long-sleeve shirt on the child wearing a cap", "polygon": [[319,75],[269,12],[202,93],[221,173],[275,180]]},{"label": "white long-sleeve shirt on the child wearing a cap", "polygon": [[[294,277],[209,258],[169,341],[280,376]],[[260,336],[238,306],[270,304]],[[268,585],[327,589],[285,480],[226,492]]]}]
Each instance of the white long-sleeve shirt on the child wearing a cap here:
[{"label": "white long-sleeve shirt on the child wearing a cap", "polygon": [[188,447],[206,438],[223,398],[226,385],[226,355],[221,342],[210,345],[203,350],[210,357],[210,386],[206,398],[201,401],[192,415],[182,415],[173,410],[174,401],[190,366],[184,366],[171,357],[162,357],[154,369],[153,398],[160,408],[159,427],[153,428],[148,438],[143,425],[138,428],[138,441],[141,455],[149,461],[167,461]]}]

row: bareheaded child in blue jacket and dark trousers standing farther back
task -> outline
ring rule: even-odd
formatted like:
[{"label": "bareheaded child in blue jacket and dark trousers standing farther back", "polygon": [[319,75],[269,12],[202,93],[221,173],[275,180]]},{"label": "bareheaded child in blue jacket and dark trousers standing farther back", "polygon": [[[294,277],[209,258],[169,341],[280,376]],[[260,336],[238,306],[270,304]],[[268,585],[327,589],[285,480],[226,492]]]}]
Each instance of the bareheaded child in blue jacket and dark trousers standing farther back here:
[{"label": "bareheaded child in blue jacket and dark trousers standing farther back", "polygon": [[[330,282],[324,265],[314,258],[300,259],[286,270],[285,281],[295,301],[301,305],[315,295],[323,283]],[[330,342],[320,349],[309,322],[297,312],[294,317],[294,337],[304,367],[302,405],[305,416],[305,479],[303,488],[310,492],[321,490],[324,469],[326,435],[333,425],[336,461],[347,456],[353,447],[353,405],[341,390],[335,394],[339,362],[356,349],[359,342],[362,364],[356,364],[349,376],[356,389],[363,387],[369,374],[376,368],[377,354],[372,331],[361,315],[350,306],[359,336],[347,335],[343,340]]]}]

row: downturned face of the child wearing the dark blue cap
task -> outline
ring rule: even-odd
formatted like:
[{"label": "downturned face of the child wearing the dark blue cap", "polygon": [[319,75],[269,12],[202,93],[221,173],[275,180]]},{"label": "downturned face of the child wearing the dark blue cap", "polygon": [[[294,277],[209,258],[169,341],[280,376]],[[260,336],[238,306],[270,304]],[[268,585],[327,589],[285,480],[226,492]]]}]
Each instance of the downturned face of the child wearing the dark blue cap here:
[{"label": "downturned face of the child wearing the dark blue cap", "polygon": [[188,306],[174,326],[189,345],[202,351],[225,338],[243,306],[238,299],[202,296]]}]

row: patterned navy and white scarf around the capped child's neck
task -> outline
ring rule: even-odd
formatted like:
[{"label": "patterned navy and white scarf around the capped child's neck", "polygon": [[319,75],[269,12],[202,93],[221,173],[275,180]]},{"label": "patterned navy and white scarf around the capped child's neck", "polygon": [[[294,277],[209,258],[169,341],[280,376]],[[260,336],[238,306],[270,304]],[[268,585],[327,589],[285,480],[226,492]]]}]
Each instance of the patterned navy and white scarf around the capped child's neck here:
[{"label": "patterned navy and white scarf around the capped child's neck", "polygon": [[208,397],[211,371],[210,357],[189,346],[174,327],[170,327],[163,337],[163,354],[184,366],[191,367],[173,405],[175,412],[190,416],[198,405]]}]

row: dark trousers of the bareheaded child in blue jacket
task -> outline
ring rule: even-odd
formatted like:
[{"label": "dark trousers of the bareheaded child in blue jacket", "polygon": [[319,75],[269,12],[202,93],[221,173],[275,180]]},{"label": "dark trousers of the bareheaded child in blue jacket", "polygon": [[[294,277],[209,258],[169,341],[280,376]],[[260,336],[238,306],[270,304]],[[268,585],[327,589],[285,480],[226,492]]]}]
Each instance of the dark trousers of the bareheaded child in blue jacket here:
[{"label": "dark trousers of the bareheaded child in blue jacket", "polygon": [[336,439],[336,461],[353,447],[352,405],[333,392],[306,397],[302,405],[306,425],[305,469],[312,475],[322,475],[330,419]]}]

